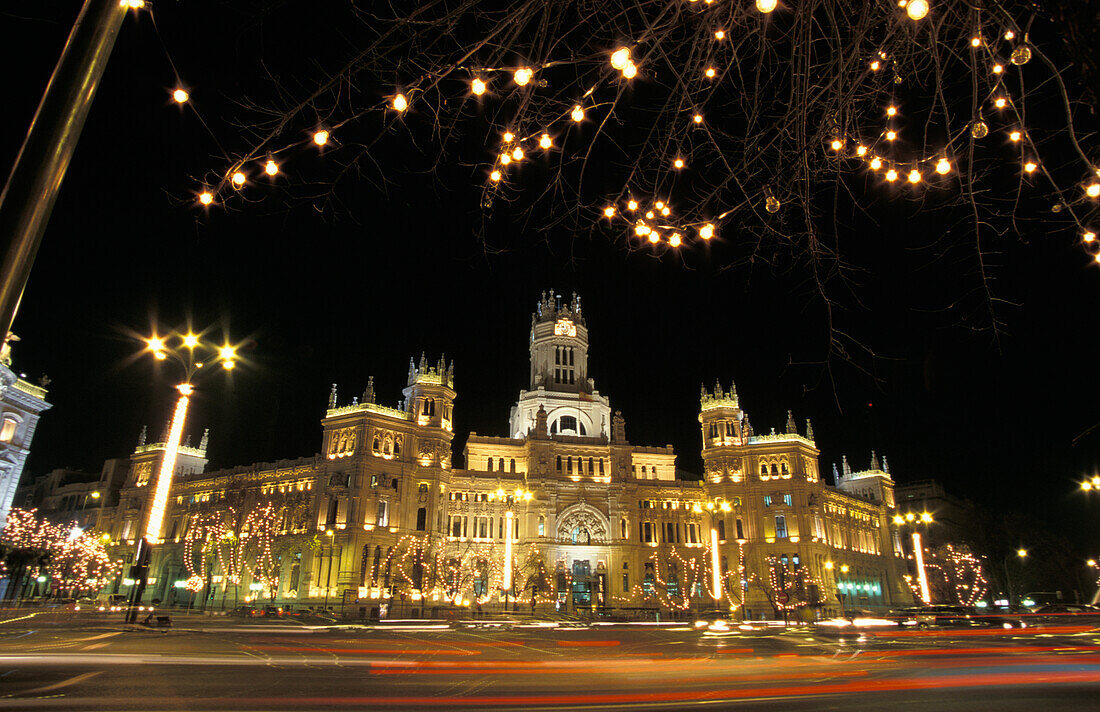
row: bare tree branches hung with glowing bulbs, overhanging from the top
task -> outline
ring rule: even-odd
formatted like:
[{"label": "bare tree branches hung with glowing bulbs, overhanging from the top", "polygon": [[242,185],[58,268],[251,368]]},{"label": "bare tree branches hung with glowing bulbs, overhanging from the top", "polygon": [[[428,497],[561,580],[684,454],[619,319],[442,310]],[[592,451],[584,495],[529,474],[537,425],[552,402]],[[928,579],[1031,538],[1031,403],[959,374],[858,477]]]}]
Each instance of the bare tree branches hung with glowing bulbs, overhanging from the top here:
[{"label": "bare tree branches hung with glowing bulbs, overhanging from the top", "polygon": [[[799,269],[829,305],[866,266],[844,239],[851,223],[936,210],[938,234],[903,247],[965,250],[944,263],[966,265],[993,326],[993,238],[1065,230],[1098,253],[1094,141],[1075,125],[1057,26],[1026,0],[350,12],[354,54],[238,117],[251,141],[205,176],[204,206],[288,185],[278,162],[318,152],[333,166],[318,182],[388,183],[372,152],[391,141],[426,169],[472,166],[487,219],[503,205],[538,211],[529,223],[543,230],[605,229],[659,255]],[[844,339],[839,316],[829,309]]]}]

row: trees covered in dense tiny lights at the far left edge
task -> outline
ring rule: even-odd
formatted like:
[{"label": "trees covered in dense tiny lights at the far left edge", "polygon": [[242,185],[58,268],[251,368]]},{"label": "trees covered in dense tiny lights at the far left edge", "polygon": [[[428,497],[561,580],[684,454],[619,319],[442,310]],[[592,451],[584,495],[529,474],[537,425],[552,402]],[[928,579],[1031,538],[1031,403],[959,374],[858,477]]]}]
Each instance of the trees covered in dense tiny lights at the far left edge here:
[{"label": "trees covered in dense tiny lights at the far left edge", "polygon": [[8,579],[8,598],[21,595],[32,581],[50,581],[56,594],[94,592],[121,570],[105,540],[76,523],[56,525],[36,510],[12,508],[0,530],[0,577]]}]

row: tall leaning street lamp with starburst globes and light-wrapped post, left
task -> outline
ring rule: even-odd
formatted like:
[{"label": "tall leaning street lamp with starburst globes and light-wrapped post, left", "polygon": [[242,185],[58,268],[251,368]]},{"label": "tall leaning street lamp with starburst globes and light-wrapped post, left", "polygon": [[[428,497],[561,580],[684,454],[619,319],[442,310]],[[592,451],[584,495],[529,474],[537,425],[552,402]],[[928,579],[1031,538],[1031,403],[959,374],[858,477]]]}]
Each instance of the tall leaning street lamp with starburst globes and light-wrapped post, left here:
[{"label": "tall leaning street lamp with starburst globes and light-wrapped post, left", "polygon": [[145,339],[145,351],[153,354],[157,361],[174,361],[183,368],[184,377],[176,385],[179,398],[168,425],[168,436],[164,443],[164,456],[161,460],[161,468],[157,471],[156,481],[153,486],[153,500],[148,506],[148,516],[145,519],[145,528],[141,539],[138,540],[138,550],[134,552],[134,566],[131,569],[130,578],[134,580],[130,595],[130,607],[127,612],[127,622],[135,623],[138,620],[138,603],[145,592],[145,582],[148,573],[148,565],[152,555],[152,547],[161,540],[164,527],[164,514],[168,505],[168,493],[172,490],[172,479],[176,471],[176,457],[179,453],[179,441],[183,439],[184,423],[187,419],[187,408],[190,404],[191,394],[195,392],[195,380],[210,364],[220,363],[226,371],[232,370],[237,365],[235,347],[223,343],[216,346],[202,341],[199,335],[190,330],[184,335],[173,335],[161,337],[153,335]]}]

